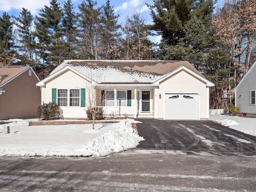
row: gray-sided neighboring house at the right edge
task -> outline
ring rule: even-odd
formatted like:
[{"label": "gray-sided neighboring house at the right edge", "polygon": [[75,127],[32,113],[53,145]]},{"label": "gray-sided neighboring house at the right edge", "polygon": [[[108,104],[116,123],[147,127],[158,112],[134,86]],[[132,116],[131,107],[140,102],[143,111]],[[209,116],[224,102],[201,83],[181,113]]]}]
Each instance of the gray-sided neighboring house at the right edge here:
[{"label": "gray-sided neighboring house at the right edge", "polygon": [[256,118],[256,62],[235,88],[235,105],[246,117]]}]

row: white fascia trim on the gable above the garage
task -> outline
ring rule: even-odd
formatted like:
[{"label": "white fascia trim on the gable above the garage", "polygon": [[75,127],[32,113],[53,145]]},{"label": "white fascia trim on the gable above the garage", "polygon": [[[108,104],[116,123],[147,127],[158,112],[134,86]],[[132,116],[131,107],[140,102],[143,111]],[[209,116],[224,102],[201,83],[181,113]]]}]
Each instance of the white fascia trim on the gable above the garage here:
[{"label": "white fascia trim on the gable above the garage", "polygon": [[214,86],[214,83],[208,81],[206,78],[198,75],[197,73],[195,73],[194,71],[190,70],[189,68],[186,68],[185,66],[180,66],[179,68],[177,68],[176,70],[170,72],[166,76],[163,76],[162,78],[160,78],[159,80],[154,82],[153,85],[159,85],[159,82],[161,82],[162,80],[164,80],[166,78],[169,78],[170,76],[172,76],[173,74],[175,74],[175,73],[177,73],[177,72],[179,72],[181,70],[184,70],[184,71],[188,72],[189,74],[191,74],[192,76],[195,76],[196,78],[202,80],[203,82],[206,83],[207,87],[213,87]]}]

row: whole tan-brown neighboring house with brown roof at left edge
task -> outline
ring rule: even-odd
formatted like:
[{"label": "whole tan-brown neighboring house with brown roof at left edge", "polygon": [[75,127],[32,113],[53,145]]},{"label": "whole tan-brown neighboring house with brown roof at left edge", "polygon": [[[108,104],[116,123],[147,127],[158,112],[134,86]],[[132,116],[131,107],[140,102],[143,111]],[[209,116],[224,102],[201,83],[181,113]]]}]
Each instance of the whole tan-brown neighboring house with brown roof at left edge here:
[{"label": "whole tan-brown neighboring house with brown roof at left edge", "polygon": [[39,81],[29,66],[0,66],[0,120],[36,118],[41,104]]}]

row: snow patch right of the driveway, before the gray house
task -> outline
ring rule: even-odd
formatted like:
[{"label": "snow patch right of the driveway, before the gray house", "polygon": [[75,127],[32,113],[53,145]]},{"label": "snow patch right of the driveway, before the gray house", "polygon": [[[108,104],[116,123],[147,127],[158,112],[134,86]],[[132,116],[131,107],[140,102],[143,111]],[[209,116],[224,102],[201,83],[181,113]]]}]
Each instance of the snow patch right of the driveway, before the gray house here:
[{"label": "snow patch right of the driveway, before the gray house", "polygon": [[229,114],[210,115],[209,120],[218,122],[224,126],[256,136],[256,118],[230,116]]}]

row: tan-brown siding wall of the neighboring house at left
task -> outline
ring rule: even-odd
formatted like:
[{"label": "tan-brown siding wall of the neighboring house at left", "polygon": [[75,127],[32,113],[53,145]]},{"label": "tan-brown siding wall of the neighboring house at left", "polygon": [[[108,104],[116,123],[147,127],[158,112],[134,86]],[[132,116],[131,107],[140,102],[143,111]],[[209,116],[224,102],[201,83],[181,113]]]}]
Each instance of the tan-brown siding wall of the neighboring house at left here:
[{"label": "tan-brown siding wall of the neighboring house at left", "polygon": [[36,118],[41,104],[39,82],[34,73],[30,76],[26,70],[4,86],[0,95],[0,120],[13,118]]}]

